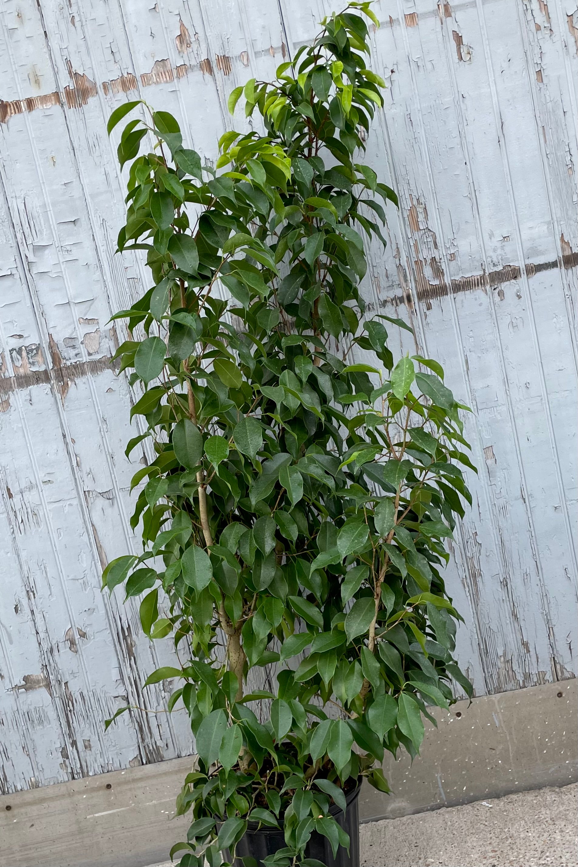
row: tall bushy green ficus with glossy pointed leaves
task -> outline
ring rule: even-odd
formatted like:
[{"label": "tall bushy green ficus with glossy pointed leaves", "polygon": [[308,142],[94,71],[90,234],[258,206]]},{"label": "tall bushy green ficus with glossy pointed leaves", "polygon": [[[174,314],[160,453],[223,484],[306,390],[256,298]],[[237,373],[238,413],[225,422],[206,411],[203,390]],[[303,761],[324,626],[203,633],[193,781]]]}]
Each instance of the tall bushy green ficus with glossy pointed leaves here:
[{"label": "tall bushy green ficus with glossy pointed leaves", "polygon": [[[384,104],[367,18],[350,3],[276,81],[235,88],[231,113],[244,97],[264,132],[225,133],[215,167],[140,101],[108,123],[143,108],[118,148],[118,246],[146,250],[153,287],[114,316],[143,420],[127,455],[149,450],[132,485],[142,553],[103,586],[140,597],[146,636],[179,659],[146,684],[179,684],[168,710],[185,707],[198,753],[182,867],[231,864],[250,822],[283,823],[268,867],[315,867],[313,831],[348,845],[330,807],[360,777],[388,792],[384,750],[415,756],[427,706],[455,701],[452,681],[471,694],[440,572],[471,503],[467,407],[438,362],[396,361],[388,330],[411,329],[366,316],[360,292],[397,205],[356,161]],[[354,347],[373,364],[348,363]]]}]

